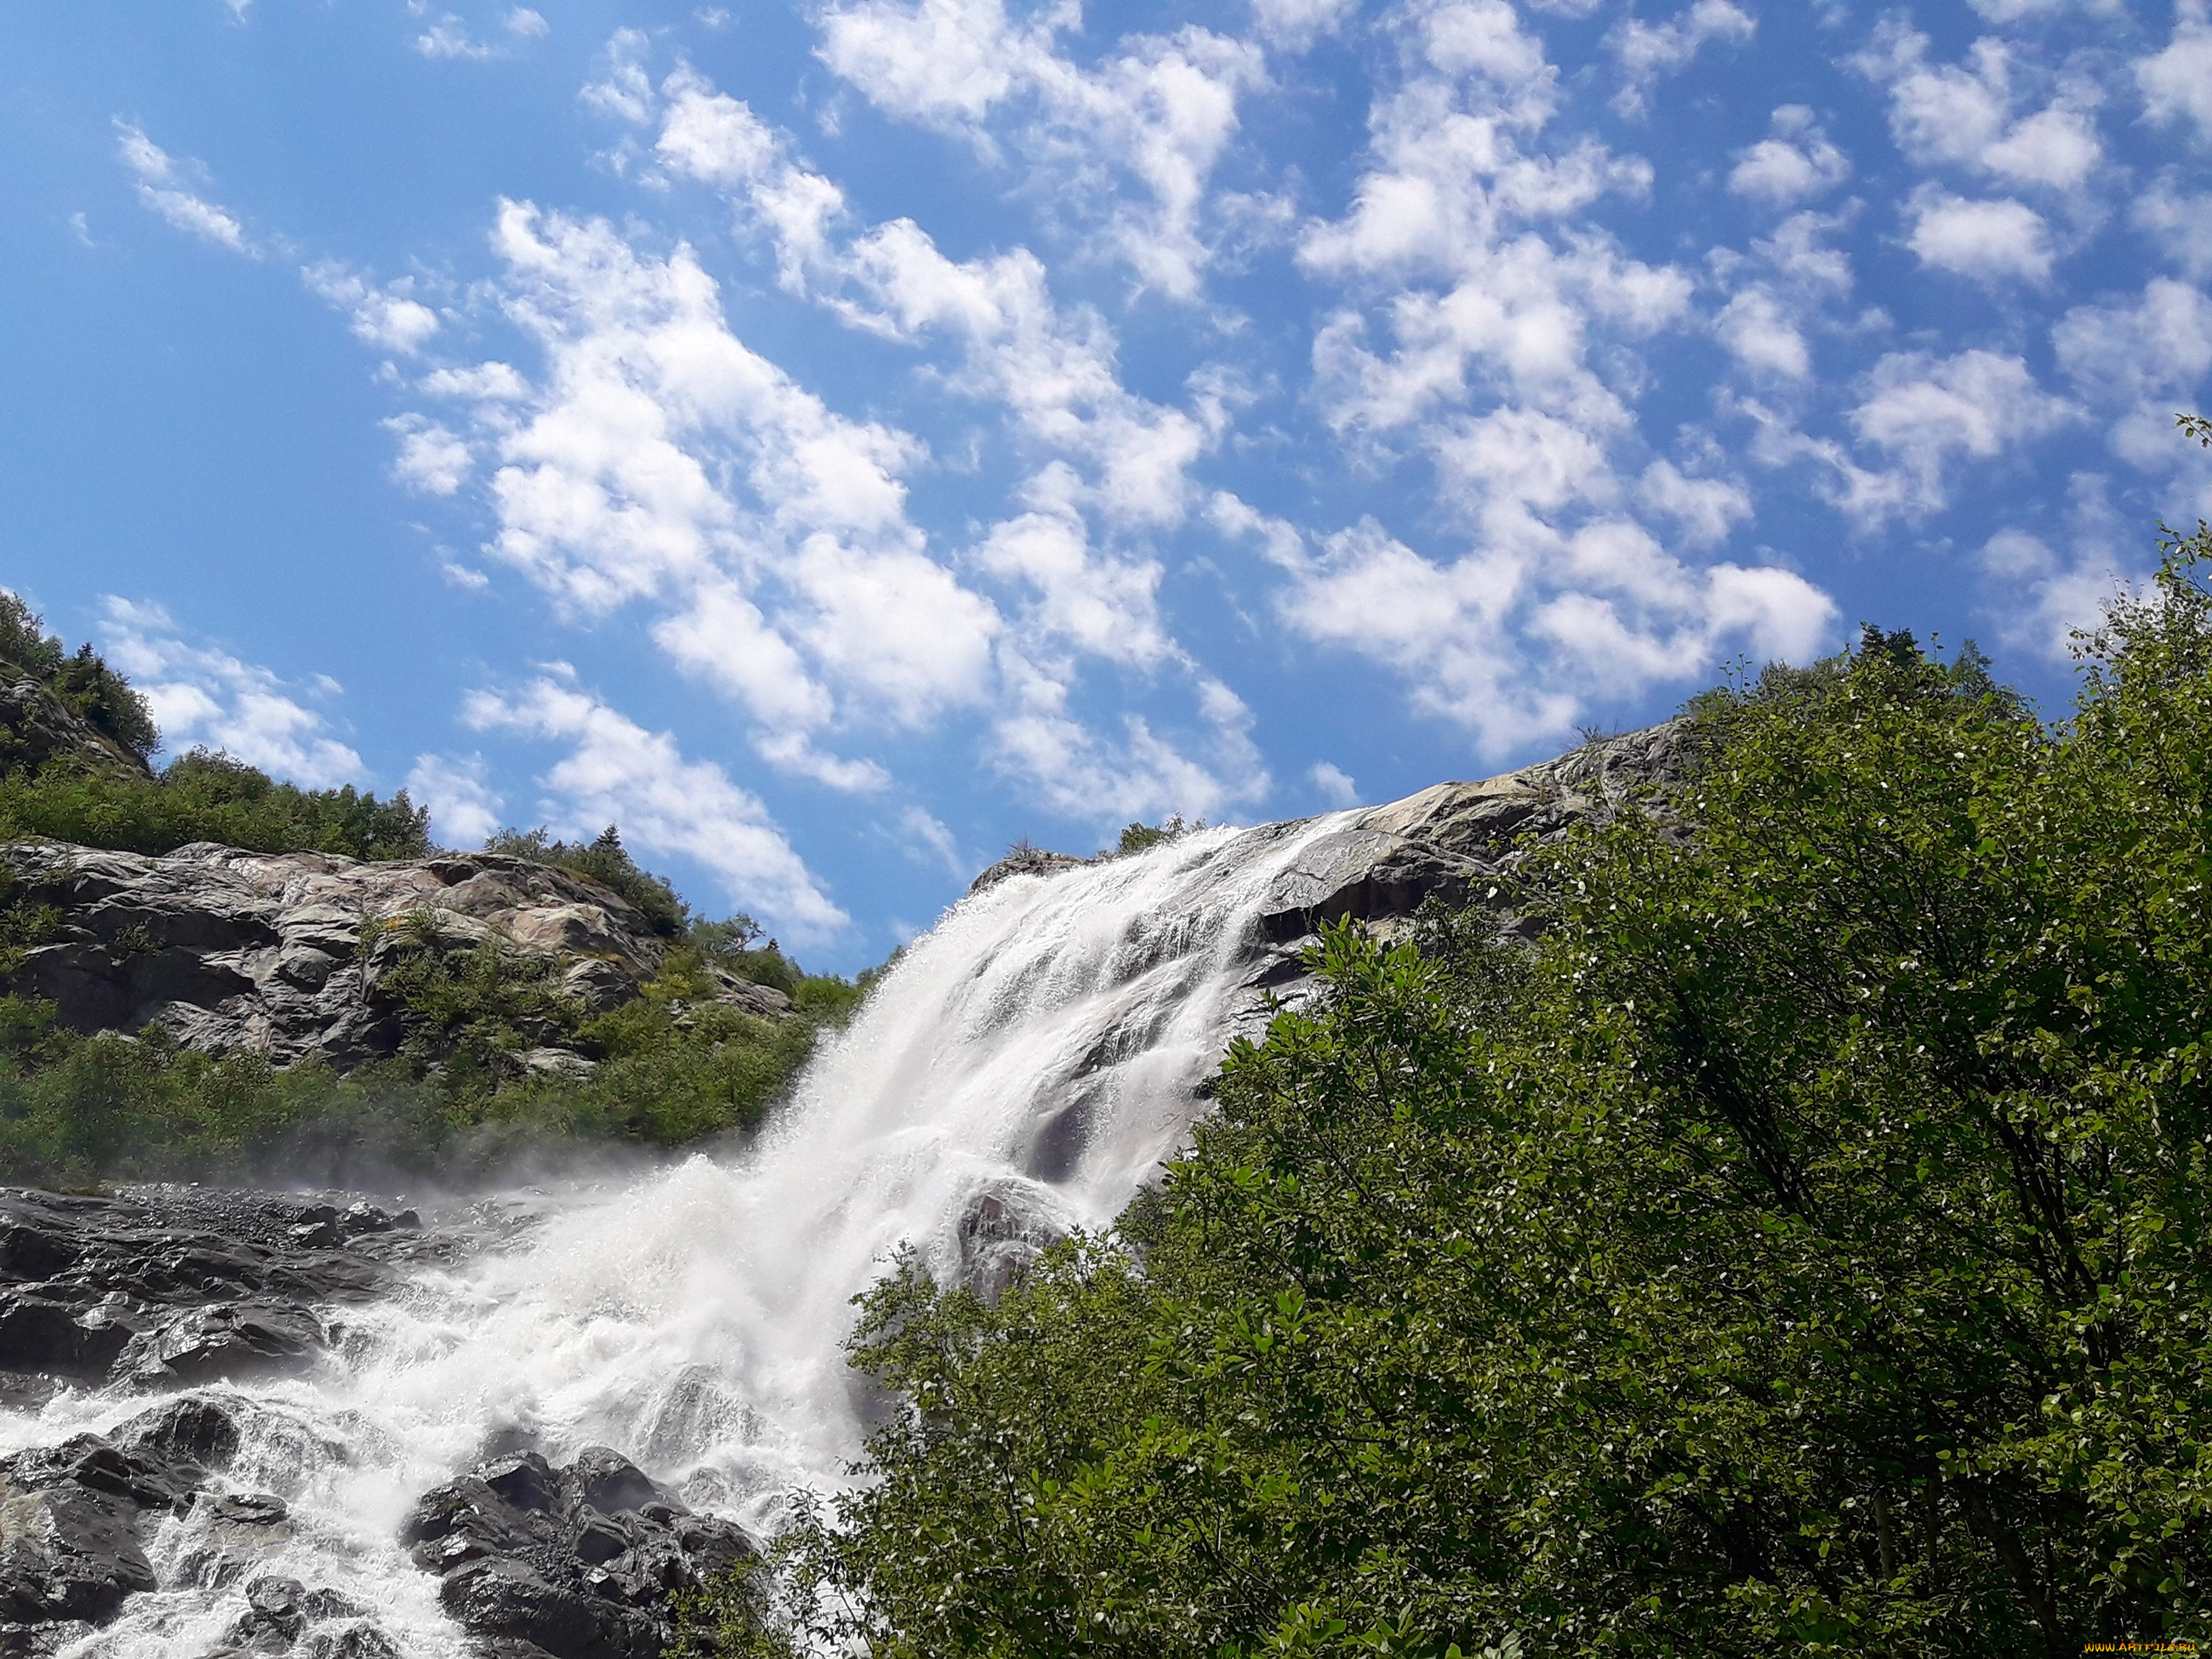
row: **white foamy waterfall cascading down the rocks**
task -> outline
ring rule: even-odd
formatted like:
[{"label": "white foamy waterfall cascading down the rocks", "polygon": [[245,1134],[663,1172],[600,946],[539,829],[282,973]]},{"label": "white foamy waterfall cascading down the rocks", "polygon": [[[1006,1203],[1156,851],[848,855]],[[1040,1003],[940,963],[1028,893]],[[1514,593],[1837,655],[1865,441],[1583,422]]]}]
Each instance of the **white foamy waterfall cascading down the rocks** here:
[{"label": "white foamy waterfall cascading down the rocks", "polygon": [[[964,900],[750,1148],[533,1199],[551,1214],[518,1248],[338,1310],[347,1336],[314,1374],[221,1389],[250,1407],[226,1484],[292,1504],[292,1542],[257,1571],[365,1604],[411,1659],[462,1659],[394,1533],[515,1431],[555,1462],[615,1447],[695,1506],[774,1531],[787,1491],[836,1484],[860,1447],[854,1292],[902,1243],[940,1279],[989,1279],[1020,1250],[1006,1234],[1110,1221],[1183,1141],[1192,1086],[1254,1006],[1263,898],[1340,821],[1199,832]],[[51,1444],[157,1402],[64,1396],[0,1418],[0,1440]],[[241,1582],[201,1582],[197,1528],[161,1522],[164,1588],[64,1652],[219,1646]]]}]

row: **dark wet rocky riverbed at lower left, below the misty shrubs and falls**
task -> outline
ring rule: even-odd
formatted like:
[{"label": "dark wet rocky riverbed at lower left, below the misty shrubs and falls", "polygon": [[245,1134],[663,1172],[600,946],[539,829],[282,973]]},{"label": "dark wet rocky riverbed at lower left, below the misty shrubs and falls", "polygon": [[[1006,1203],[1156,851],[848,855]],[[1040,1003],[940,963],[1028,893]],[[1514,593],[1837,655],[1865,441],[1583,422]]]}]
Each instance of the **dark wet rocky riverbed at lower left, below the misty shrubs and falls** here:
[{"label": "dark wet rocky riverbed at lower left, below the misty shrubs and falls", "polygon": [[[294,1517],[237,1478],[241,1442],[268,1429],[239,1385],[310,1376],[349,1310],[531,1223],[513,1201],[425,1225],[345,1192],[0,1190],[0,1400],[148,1396],[106,1433],[0,1458],[0,1659],[58,1652],[177,1586],[237,1604],[223,1639],[179,1659],[398,1659],[367,1606],[268,1566]],[[754,1553],[615,1449],[562,1467],[526,1444],[487,1451],[400,1531],[487,1659],[650,1659],[672,1597]]]}]

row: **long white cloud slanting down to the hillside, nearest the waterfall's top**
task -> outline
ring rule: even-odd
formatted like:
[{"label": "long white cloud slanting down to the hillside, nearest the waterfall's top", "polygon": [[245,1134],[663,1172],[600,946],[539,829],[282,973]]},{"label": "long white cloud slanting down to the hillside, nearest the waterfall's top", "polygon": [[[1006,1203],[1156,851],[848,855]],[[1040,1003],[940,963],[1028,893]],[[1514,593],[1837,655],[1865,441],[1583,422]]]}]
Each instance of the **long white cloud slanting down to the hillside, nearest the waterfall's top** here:
[{"label": "long white cloud slanting down to the hillside, nearest the waterfall's top", "polygon": [[591,834],[615,823],[633,847],[706,865],[732,902],[799,938],[847,925],[754,794],[712,761],[684,759],[675,737],[608,708],[573,672],[557,668],[509,695],[471,692],[462,719],[480,732],[571,745],[540,779],[555,830]]}]

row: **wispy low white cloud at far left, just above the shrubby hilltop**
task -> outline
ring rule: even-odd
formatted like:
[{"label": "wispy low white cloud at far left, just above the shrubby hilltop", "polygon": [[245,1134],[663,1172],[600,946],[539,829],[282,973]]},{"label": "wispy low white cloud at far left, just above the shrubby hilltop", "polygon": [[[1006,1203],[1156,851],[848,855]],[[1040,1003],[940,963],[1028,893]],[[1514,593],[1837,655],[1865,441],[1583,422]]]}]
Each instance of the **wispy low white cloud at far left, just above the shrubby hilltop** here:
[{"label": "wispy low white cloud at far left, just above the shrubby hilltop", "polygon": [[[173,754],[219,748],[316,790],[363,779],[361,757],[268,668],[186,641],[157,604],[108,595],[100,608],[102,648],[153,703]],[[323,690],[334,686],[325,679]]]}]

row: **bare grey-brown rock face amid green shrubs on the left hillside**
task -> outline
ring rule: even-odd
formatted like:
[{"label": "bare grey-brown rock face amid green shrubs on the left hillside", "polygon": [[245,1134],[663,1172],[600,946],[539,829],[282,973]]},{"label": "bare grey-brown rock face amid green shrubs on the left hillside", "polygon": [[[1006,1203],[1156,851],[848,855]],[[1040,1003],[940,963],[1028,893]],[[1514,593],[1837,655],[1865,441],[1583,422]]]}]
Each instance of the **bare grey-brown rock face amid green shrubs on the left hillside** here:
[{"label": "bare grey-brown rock face amid green shrubs on the left hillside", "polygon": [[[628,902],[564,869],[498,854],[358,863],[215,843],[161,858],[58,841],[0,847],[18,902],[60,911],[7,989],[49,998],[73,1031],[168,1026],[223,1055],[338,1068],[398,1048],[383,987],[416,927],[438,951],[493,938],[562,962],[591,1009],[637,995],[666,942]],[[407,922],[369,929],[363,925]]]}]

